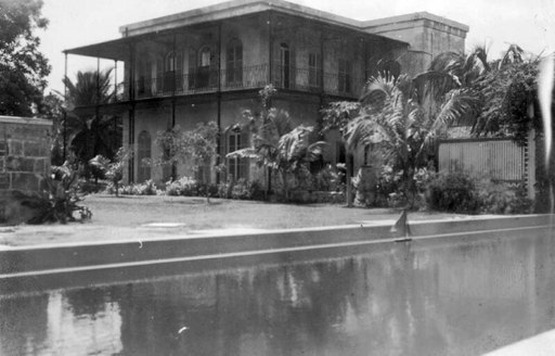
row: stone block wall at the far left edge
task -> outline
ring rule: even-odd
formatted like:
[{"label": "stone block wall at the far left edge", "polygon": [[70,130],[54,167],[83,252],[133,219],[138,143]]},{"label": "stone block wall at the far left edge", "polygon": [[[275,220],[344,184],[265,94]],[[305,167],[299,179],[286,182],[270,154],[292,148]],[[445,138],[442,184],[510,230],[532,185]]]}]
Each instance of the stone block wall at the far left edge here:
[{"label": "stone block wall at the far left edge", "polygon": [[52,122],[0,116],[0,224],[25,221],[29,212],[13,191],[40,190],[50,169]]}]

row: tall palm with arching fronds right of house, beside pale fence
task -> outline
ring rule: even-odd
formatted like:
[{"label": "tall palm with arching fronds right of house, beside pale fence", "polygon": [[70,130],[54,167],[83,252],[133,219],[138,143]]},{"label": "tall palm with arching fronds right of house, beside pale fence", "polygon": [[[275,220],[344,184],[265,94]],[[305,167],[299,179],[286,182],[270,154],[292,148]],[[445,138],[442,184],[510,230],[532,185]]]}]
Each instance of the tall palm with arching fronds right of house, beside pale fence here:
[{"label": "tall palm with arching fronds right of house, beside pale fence", "polygon": [[[443,76],[443,78],[441,78]],[[422,91],[423,80],[429,81]],[[449,74],[425,73],[416,78],[378,75],[371,78],[361,98],[359,115],[346,129],[346,143],[350,150],[359,144],[373,143],[397,171],[402,171],[402,186],[408,195],[415,192],[412,176],[425,166],[425,153],[434,139],[446,134],[447,128],[461,117],[479,111],[481,101],[469,88],[450,89],[442,96],[433,86],[435,81],[454,81]],[[431,84],[431,85],[430,85]],[[447,86],[449,88],[449,86]],[[435,114],[429,112],[429,101],[436,98]]]}]

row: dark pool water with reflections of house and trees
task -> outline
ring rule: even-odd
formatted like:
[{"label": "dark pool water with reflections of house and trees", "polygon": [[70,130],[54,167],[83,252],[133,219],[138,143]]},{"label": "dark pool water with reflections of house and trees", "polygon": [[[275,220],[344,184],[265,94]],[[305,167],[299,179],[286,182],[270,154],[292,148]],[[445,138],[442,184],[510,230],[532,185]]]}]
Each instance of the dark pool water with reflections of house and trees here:
[{"label": "dark pool water with reflections of house and trees", "polygon": [[521,237],[0,300],[2,355],[477,355],[555,327]]}]

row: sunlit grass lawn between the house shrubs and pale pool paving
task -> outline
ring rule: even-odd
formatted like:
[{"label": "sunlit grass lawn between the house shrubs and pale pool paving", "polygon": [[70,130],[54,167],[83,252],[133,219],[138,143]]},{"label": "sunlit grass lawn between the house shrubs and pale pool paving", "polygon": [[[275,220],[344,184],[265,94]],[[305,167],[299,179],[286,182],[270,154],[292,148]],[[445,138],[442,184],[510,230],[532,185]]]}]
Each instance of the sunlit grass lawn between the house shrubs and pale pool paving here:
[{"label": "sunlit grass lawn between the house shrubs and pale pool paving", "polygon": [[[83,201],[92,211],[92,224],[135,227],[150,223],[181,223],[191,229],[249,227],[262,229],[304,228],[395,219],[388,208],[348,208],[332,204],[276,204],[254,201],[188,196],[89,195]],[[410,219],[436,219],[453,214],[415,212]]]}]

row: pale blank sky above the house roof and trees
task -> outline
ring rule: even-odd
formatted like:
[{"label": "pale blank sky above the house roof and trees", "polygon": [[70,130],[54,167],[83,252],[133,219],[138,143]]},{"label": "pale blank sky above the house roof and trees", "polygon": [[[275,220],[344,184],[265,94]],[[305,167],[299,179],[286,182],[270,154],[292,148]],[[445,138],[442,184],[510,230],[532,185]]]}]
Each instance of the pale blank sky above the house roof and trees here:
[{"label": "pale blank sky above the house roof and trees", "polygon": [[[486,44],[490,59],[511,43],[531,53],[555,51],[555,0],[289,0],[365,21],[427,11],[470,27],[466,49]],[[44,0],[49,27],[38,33],[52,66],[48,91],[63,91],[65,49],[120,37],[119,26],[224,2],[222,0]],[[101,62],[101,67],[114,62]],[[96,60],[68,55],[67,73],[95,69]]]}]

